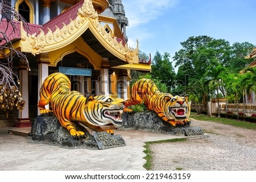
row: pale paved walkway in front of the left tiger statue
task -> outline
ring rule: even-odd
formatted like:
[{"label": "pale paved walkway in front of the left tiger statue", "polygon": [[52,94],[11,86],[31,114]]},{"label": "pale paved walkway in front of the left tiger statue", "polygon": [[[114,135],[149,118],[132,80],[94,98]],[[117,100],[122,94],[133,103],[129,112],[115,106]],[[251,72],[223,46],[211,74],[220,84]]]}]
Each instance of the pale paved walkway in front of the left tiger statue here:
[{"label": "pale paved walkway in front of the left tiger statue", "polygon": [[[19,134],[30,132],[30,128],[11,128],[11,130]],[[115,134],[121,134],[126,146],[106,150],[88,150],[28,143],[26,137],[2,132],[0,134],[0,170],[145,170],[143,167],[146,162],[143,159],[144,142],[184,138],[123,130],[116,130]]]}]

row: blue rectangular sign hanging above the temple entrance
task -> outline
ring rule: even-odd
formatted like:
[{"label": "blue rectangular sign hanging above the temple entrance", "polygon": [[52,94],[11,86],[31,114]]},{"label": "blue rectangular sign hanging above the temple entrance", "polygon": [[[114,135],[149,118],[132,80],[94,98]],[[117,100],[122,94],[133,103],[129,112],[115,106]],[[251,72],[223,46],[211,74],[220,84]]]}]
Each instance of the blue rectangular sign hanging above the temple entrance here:
[{"label": "blue rectangular sign hanging above the temple entrance", "polygon": [[80,76],[92,76],[92,69],[77,68],[77,67],[59,67],[59,72],[65,75],[80,75]]}]

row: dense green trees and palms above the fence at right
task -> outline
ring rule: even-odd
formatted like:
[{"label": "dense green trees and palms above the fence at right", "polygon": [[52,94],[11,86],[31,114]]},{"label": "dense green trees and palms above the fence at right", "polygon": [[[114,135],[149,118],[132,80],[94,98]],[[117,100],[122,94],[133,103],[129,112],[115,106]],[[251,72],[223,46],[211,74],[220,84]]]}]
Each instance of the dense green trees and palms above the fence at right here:
[{"label": "dense green trees and palms above the fence at right", "polygon": [[[243,100],[243,90],[255,88],[254,71],[245,71],[251,59],[245,57],[255,47],[248,42],[230,43],[208,36],[189,37],[172,57],[179,66],[176,90],[187,90],[191,100],[207,105],[210,98],[224,96]],[[238,74],[244,70],[245,74]],[[236,74],[236,75],[235,75]]]}]

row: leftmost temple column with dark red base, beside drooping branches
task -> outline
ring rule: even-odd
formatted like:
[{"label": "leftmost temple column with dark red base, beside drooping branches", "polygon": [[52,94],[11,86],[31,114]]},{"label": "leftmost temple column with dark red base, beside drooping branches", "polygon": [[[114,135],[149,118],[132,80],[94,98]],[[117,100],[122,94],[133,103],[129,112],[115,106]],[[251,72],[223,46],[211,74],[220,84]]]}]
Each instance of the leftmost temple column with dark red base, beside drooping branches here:
[{"label": "leftmost temple column with dark red base, beside drooping branches", "polygon": [[18,119],[15,123],[15,127],[22,128],[22,127],[28,127],[31,126],[30,118],[28,115],[28,70],[27,65],[23,64],[22,61],[20,61],[19,64],[19,79],[20,79],[20,85],[19,85],[19,91],[22,94],[22,99],[26,102],[24,105],[24,108],[22,111],[19,111]]}]

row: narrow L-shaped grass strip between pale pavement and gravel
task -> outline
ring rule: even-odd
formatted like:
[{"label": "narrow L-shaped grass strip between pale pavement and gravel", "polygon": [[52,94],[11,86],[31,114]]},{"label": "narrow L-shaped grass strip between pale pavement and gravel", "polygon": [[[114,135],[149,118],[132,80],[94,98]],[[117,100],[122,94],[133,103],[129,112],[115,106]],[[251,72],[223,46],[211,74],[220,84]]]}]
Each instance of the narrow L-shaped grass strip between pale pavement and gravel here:
[{"label": "narrow L-shaped grass strip between pale pavement and gravel", "polygon": [[160,141],[154,141],[154,142],[145,142],[144,150],[143,152],[146,154],[143,159],[146,159],[146,163],[143,165],[146,170],[150,170],[152,167],[152,151],[150,149],[150,145],[156,144],[156,143],[166,143],[166,142],[182,142],[186,141],[187,138],[174,138],[174,139],[164,139]]}]

